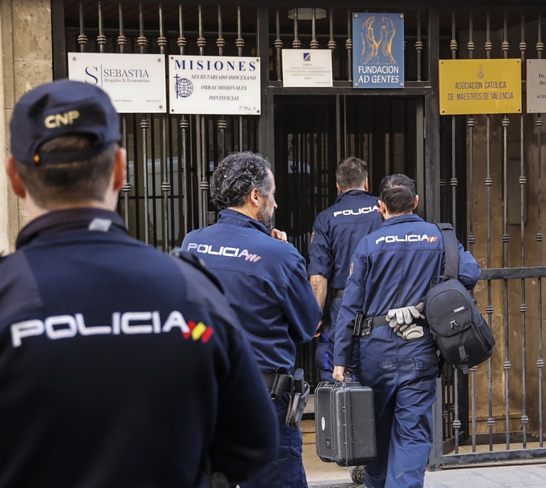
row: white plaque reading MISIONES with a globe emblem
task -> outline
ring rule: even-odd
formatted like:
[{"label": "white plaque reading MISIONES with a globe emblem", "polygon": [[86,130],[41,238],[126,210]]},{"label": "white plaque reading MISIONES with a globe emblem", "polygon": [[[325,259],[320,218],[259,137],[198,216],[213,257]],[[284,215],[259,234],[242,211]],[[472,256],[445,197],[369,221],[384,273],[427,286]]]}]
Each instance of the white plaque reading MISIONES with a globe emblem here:
[{"label": "white plaque reading MISIONES with a globe emblem", "polygon": [[171,114],[259,115],[259,58],[168,57]]}]

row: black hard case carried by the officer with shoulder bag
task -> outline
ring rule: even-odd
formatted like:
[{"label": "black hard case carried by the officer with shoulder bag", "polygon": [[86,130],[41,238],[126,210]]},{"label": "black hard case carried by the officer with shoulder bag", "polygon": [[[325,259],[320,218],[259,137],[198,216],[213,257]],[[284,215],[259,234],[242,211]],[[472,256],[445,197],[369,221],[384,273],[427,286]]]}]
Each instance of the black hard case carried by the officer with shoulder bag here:
[{"label": "black hard case carried by the officer with shoulder bag", "polygon": [[360,383],[323,381],[315,388],[316,454],[339,466],[375,459],[373,391]]}]

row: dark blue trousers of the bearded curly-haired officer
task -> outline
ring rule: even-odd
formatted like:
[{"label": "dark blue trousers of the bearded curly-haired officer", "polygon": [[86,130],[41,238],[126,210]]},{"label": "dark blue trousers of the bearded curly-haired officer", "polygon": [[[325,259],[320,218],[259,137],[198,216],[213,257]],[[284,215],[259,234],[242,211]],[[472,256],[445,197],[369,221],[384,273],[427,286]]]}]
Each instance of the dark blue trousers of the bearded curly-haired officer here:
[{"label": "dark blue trousers of the bearded curly-haired officer", "polygon": [[304,462],[301,457],[301,431],[291,429],[286,424],[288,394],[285,393],[282,398],[277,398],[274,405],[279,419],[277,457],[255,477],[240,483],[240,488],[307,488]]}]

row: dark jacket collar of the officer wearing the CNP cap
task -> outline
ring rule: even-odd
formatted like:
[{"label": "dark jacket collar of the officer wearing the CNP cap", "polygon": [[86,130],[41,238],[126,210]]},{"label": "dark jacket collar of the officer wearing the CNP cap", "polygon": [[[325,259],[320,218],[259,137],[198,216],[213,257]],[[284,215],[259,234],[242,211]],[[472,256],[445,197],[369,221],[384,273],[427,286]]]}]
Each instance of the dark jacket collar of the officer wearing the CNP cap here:
[{"label": "dark jacket collar of the officer wearing the CNP cap", "polygon": [[[65,230],[85,229],[90,223],[100,219],[105,224],[102,229],[115,228],[127,233],[122,218],[115,212],[103,208],[68,208],[66,210],[55,210],[29,222],[19,233],[16,241],[16,248],[19,249],[31,242],[31,240],[45,233],[63,232]],[[108,226],[108,221],[110,225]]]}]

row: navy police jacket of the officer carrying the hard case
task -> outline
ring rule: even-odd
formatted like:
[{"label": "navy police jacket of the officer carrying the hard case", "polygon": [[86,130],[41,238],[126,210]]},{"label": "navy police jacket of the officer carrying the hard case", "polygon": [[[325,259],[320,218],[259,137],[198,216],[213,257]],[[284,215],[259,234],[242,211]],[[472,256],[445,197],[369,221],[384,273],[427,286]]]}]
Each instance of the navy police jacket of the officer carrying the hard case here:
[{"label": "navy police jacket of the officer carrying the hard case", "polygon": [[[480,266],[459,242],[458,247],[459,281],[471,290],[480,277]],[[391,217],[363,238],[351,259],[338,314],[334,364],[350,364],[356,314],[385,316],[390,309],[424,302],[444,261],[441,231],[413,213]]]}]

